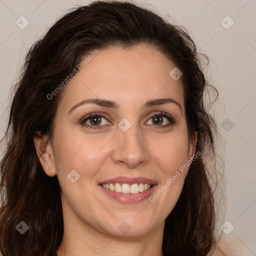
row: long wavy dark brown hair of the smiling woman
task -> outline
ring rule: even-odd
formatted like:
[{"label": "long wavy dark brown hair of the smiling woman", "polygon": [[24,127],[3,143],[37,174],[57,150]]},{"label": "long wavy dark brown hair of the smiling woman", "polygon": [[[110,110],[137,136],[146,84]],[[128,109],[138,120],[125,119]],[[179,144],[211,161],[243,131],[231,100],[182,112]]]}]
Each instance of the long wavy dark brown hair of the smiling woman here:
[{"label": "long wavy dark brown hair of the smiling woman", "polygon": [[[15,84],[0,164],[0,251],[3,256],[55,255],[63,236],[60,185],[45,174],[33,143],[42,131],[50,138],[59,97],[49,95],[93,49],[144,43],[164,53],[183,73],[185,117],[189,139],[197,131],[195,151],[180,197],[165,220],[162,252],[204,256],[216,245],[214,187],[207,161],[215,161],[215,120],[203,94],[217,90],[204,76],[202,60],[185,28],[173,25],[133,3],[96,1],[69,10],[36,41],[26,55]],[[216,99],[215,97],[215,99]],[[215,166],[215,165],[213,165]],[[217,172],[214,169],[215,173]],[[20,234],[15,226],[29,229]]]}]

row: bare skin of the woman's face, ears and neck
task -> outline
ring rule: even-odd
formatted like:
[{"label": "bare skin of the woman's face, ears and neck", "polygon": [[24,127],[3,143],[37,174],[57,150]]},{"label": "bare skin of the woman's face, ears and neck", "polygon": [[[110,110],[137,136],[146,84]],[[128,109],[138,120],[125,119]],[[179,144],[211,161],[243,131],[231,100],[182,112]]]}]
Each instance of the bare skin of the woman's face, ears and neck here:
[{"label": "bare skin of the woman's face, ears and neck", "polygon": [[[164,220],[179,198],[188,168],[153,202],[115,201],[102,192],[99,182],[142,176],[157,182],[156,192],[194,156],[196,133],[189,141],[181,80],[169,75],[174,67],[146,45],[111,47],[99,50],[64,88],[53,136],[39,157],[45,173],[57,175],[62,189],[64,235],[58,256],[162,256]],[[70,111],[88,98],[111,100],[119,108],[89,103]],[[143,106],[160,98],[172,98],[180,106],[173,102]],[[86,128],[93,125],[90,119],[79,122],[95,112],[105,115],[99,128]],[[150,114],[160,116],[162,123],[153,123]],[[126,131],[118,126],[123,118],[131,124]],[[38,132],[36,148],[45,139]],[[67,178],[72,169],[80,175],[74,183]],[[123,221],[130,226],[126,233],[118,228]]]}]

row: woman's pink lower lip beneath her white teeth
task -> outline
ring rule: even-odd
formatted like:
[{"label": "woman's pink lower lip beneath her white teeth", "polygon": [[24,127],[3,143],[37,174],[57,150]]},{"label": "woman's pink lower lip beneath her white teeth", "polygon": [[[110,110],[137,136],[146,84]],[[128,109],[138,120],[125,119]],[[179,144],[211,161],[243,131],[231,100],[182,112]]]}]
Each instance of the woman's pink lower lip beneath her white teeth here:
[{"label": "woman's pink lower lip beneath her white teeth", "polygon": [[141,202],[145,199],[148,199],[148,197],[153,193],[154,188],[156,187],[156,184],[152,185],[149,189],[143,192],[138,192],[136,194],[131,193],[117,193],[115,191],[111,191],[110,189],[104,188],[102,185],[99,185],[104,193],[106,193],[108,196],[113,198],[114,200],[118,202],[124,202],[124,203],[136,203]]}]

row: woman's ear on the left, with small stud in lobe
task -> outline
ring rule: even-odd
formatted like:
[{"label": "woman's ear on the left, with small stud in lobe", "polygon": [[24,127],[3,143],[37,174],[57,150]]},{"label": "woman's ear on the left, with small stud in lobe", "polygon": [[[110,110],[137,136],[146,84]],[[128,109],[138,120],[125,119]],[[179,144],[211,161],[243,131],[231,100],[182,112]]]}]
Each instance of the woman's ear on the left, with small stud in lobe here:
[{"label": "woman's ear on the left, with small stud in lobe", "polygon": [[47,175],[52,177],[56,174],[56,171],[51,143],[50,140],[47,141],[47,139],[48,137],[45,134],[42,134],[41,131],[36,131],[33,134],[36,153],[42,168]]}]

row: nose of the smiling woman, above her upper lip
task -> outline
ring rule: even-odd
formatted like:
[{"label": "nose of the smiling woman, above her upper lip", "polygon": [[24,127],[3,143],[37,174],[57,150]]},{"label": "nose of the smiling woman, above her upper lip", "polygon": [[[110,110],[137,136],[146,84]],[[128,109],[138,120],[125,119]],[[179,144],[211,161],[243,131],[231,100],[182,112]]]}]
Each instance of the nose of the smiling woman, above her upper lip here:
[{"label": "nose of the smiling woman, above her upper lip", "polygon": [[118,129],[117,132],[112,153],[113,161],[129,168],[146,164],[150,158],[150,150],[145,137],[135,125],[131,125],[126,131]]}]

